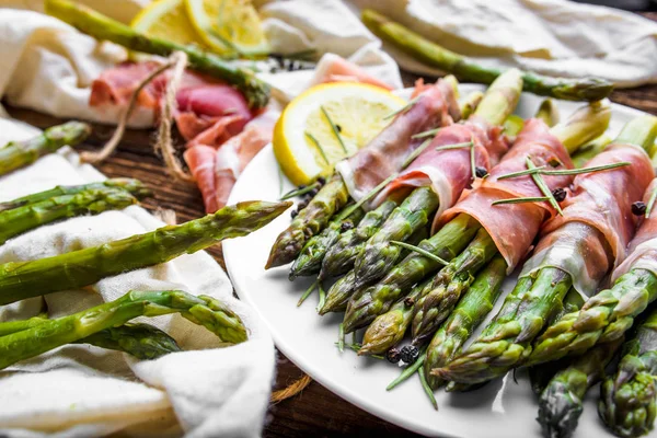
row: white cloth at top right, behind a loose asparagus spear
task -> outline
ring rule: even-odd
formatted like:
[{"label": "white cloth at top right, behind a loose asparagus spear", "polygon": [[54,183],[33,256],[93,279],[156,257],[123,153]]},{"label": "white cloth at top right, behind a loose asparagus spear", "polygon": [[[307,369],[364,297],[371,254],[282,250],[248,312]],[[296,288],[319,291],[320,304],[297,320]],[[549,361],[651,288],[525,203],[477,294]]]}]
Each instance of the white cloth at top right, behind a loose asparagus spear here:
[{"label": "white cloth at top right, behind a loose asparagus spear", "polygon": [[[616,87],[657,82],[657,23],[567,0],[353,0],[483,66],[557,77],[599,77]],[[400,65],[437,70],[384,46]]]}]

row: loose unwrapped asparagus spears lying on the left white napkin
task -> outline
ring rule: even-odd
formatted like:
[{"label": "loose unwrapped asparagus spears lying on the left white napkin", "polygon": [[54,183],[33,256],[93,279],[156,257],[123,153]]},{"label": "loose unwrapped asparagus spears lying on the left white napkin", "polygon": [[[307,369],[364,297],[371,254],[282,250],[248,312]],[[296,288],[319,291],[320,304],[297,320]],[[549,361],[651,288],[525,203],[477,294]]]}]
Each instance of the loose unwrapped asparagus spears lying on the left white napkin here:
[{"label": "loose unwrapped asparagus spears lying on the left white napkin", "polygon": [[[0,148],[0,177],[61,147],[76,146],[90,132],[87,124],[70,122],[46,129],[26,141]],[[82,215],[123,209],[149,196],[137,180],[116,178],[78,186],[57,186],[0,204],[0,245],[35,228]],[[168,262],[223,239],[246,235],[269,223],[290,203],[241,203],[180,226],[169,226],[99,246],[51,257],[0,265],[0,304],[91,286],[102,278]],[[45,306],[45,302],[44,302]],[[122,298],[54,320],[47,308],[24,321],[0,322],[0,369],[53,348],[84,343],[154,359],[180,351],[166,333],[138,316],[178,313],[212,332],[226,344],[247,339],[240,316],[208,296],[182,290],[128,291]]]}]

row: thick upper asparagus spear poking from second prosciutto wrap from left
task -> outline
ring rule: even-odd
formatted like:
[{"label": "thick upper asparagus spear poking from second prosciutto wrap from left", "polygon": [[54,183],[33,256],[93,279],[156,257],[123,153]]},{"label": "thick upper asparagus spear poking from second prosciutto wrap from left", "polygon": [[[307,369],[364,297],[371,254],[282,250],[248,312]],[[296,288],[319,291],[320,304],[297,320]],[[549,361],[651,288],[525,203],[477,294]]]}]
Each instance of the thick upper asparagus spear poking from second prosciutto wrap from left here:
[{"label": "thick upper asparagus spear poking from second prosciutto wrap from left", "polygon": [[381,278],[399,260],[401,246],[391,245],[390,241],[402,241],[411,237],[415,230],[425,227],[433,212],[438,208],[438,196],[430,187],[416,188],[394,209],[379,231],[367,241],[356,257],[356,289]]}]

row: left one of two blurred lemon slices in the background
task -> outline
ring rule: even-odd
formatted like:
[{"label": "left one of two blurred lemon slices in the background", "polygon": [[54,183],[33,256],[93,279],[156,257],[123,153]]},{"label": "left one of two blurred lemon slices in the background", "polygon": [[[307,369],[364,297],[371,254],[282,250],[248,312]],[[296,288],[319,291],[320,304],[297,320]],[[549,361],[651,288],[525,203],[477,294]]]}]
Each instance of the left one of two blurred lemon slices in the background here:
[{"label": "left one of two blurred lemon slices in the background", "polygon": [[158,0],[132,19],[130,26],[148,36],[207,48],[187,18],[184,0]]}]

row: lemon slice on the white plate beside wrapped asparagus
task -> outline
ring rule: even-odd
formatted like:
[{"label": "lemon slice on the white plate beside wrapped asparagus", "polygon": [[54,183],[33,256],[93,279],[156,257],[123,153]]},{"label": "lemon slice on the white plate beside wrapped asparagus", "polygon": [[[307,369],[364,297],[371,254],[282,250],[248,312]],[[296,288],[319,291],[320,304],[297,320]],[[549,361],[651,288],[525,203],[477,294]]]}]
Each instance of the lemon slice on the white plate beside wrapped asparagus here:
[{"label": "lemon slice on the white plate beside wrapped asparagus", "polygon": [[331,174],[336,162],[366,146],[390,123],[387,116],[404,105],[388,90],[365,83],[311,88],[289,103],[274,128],[280,169],[296,185]]}]

